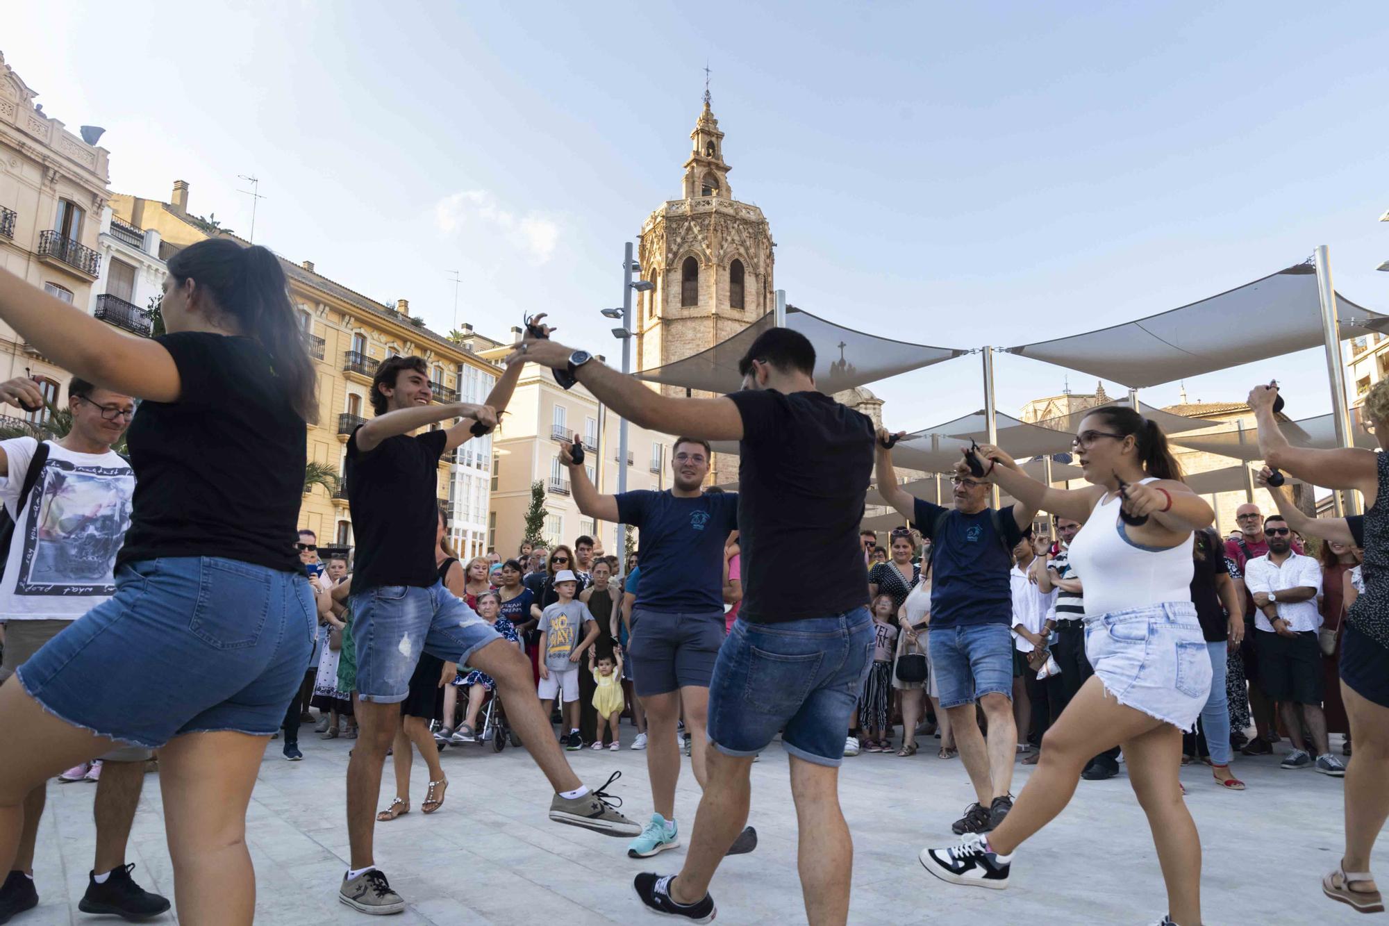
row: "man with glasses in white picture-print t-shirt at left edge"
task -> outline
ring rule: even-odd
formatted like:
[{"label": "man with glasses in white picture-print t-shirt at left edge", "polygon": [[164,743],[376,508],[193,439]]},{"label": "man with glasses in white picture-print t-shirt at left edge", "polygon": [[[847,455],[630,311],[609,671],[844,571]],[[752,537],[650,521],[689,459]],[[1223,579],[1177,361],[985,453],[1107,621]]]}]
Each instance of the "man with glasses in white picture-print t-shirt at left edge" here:
[{"label": "man with glasses in white picture-print t-shirt at left edge", "polygon": [[[0,400],[26,410],[44,405],[38,385],[25,377],[0,384]],[[0,501],[14,521],[8,551],[0,549],[0,622],[6,622],[0,681],[115,592],[113,569],[131,523],[135,473],[111,446],[135,416],[135,400],[74,377],[68,410],[72,425],[57,441],[0,441]],[[93,697],[100,697],[100,680],[92,683]],[[149,749],[118,745],[96,763],[58,776],[60,781],[97,783],[96,859],[81,901],[83,911],[144,919],[169,908],[168,900],[131,879],[135,865],[125,861],[150,755]],[[33,847],[43,805],[42,786],[24,799],[14,869],[0,887],[0,922],[39,902]]]}]

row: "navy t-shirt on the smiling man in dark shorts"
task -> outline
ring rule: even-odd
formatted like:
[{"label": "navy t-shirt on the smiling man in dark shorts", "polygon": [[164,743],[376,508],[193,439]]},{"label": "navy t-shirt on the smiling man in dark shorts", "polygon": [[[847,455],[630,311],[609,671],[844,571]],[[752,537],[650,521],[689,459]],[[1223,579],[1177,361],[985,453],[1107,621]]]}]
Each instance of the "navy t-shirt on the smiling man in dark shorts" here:
[{"label": "navy t-shirt on the smiling man in dark shorts", "polygon": [[622,492],[617,516],[642,531],[643,610],[724,612],[724,542],[738,528],[738,492],[675,498]]}]

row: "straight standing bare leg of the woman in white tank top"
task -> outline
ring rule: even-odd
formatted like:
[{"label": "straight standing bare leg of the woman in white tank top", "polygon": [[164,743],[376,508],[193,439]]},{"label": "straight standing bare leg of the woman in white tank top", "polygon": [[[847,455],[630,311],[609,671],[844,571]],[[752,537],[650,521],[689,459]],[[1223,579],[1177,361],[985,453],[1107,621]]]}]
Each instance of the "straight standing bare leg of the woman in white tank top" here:
[{"label": "straight standing bare leg of the woman in white tank top", "polygon": [[1167,912],[1178,926],[1201,923],[1201,838],[1182,799],[1182,731],[1164,723],[1126,740],[1124,758],[1147,815],[1167,884]]}]

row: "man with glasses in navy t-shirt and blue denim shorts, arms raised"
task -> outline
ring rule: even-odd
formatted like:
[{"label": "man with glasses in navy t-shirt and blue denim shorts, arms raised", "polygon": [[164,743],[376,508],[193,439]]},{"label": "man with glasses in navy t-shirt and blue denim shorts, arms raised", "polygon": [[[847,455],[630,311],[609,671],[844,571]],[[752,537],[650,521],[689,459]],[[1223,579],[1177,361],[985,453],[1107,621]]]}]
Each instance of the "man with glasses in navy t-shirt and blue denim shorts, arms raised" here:
[{"label": "man with glasses in navy t-shirt and blue denim shorts, arms raised", "polygon": [[[960,758],[978,801],[956,833],[986,833],[1013,809],[1013,763],[1017,724],[1013,719],[1013,548],[1032,527],[1036,509],[1022,503],[1001,510],[988,506],[989,482],[954,477],[954,507],[914,498],[897,484],[892,450],[879,432],[878,492],[931,539],[931,666],[940,706],[950,716]],[[985,453],[990,448],[981,448]],[[988,459],[983,453],[981,460]],[[995,463],[989,463],[995,466]],[[989,722],[988,741],[979,731],[975,704]]]}]

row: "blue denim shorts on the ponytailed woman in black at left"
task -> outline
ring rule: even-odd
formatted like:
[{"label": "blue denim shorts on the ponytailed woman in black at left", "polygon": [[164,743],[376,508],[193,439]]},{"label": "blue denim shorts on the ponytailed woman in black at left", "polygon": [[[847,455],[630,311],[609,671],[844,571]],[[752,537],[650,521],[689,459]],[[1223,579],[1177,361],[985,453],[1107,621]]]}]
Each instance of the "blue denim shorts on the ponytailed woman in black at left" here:
[{"label": "blue denim shorts on the ponytailed woman in black at left", "polygon": [[183,733],[268,737],[304,681],[317,627],[301,573],[149,559],[121,566],[115,594],[15,677],[63,720],[149,749]]}]

